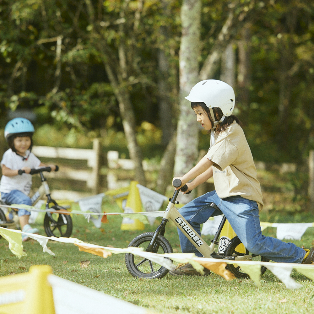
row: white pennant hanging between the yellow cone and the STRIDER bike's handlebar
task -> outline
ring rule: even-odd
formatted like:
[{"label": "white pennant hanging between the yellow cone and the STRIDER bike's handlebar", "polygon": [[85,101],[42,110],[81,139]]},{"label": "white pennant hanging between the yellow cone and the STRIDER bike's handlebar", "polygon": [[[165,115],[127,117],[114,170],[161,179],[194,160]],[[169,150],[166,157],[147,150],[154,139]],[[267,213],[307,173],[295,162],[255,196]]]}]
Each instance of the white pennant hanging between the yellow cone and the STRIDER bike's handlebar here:
[{"label": "white pennant hanging between the yellow cone and the STRIDER bike's handlebar", "polygon": [[[160,209],[164,201],[168,201],[166,196],[150,190],[147,187],[143,187],[140,184],[136,185],[141,198],[141,202],[145,212],[156,212]],[[147,216],[150,225],[154,224],[155,217]]]}]

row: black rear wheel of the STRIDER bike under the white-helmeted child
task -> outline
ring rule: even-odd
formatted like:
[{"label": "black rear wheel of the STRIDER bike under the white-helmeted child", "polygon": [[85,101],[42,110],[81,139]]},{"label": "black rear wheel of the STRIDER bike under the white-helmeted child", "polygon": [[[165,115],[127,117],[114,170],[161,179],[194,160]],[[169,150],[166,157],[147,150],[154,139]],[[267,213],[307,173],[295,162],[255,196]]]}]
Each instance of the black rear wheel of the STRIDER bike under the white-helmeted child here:
[{"label": "black rear wheel of the STRIDER bike under the white-helmeted child", "polygon": [[[249,251],[246,249],[245,253],[239,252],[238,246],[242,244],[238,236],[235,236],[231,239],[231,241],[228,243],[224,255],[226,256],[242,256],[242,255],[248,255]],[[253,261],[260,261],[260,262],[269,262],[269,259],[260,255],[257,255],[256,257],[252,258]],[[230,270],[232,273],[235,274],[237,278],[249,278],[249,275],[245,273],[243,270],[241,270],[241,267],[237,264],[227,264],[226,269]],[[261,266],[261,275],[265,273],[267,268],[265,266]]]}]

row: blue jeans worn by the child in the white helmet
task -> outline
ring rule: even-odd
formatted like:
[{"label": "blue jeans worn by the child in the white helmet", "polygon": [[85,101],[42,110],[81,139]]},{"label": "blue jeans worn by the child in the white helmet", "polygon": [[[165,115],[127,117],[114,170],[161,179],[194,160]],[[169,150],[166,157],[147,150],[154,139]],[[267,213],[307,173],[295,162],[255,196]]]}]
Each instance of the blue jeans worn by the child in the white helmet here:
[{"label": "blue jeans worn by the child in the white helmet", "polygon": [[[211,207],[211,202],[220,210]],[[199,235],[200,224],[205,223],[209,217],[225,214],[236,235],[252,254],[262,255],[274,262],[301,263],[305,256],[306,252],[294,243],[263,236],[257,203],[241,196],[221,199],[216,191],[208,192],[184,205],[179,212]],[[180,230],[178,234],[183,253],[193,252],[202,257]]]}]

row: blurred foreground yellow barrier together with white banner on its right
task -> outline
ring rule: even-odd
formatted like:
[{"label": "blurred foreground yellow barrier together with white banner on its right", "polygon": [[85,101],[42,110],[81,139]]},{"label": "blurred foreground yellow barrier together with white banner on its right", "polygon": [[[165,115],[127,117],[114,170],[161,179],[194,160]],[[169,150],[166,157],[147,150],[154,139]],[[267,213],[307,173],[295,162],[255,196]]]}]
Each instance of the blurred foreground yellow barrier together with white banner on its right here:
[{"label": "blurred foreground yellow barrier together with white banner on its right", "polygon": [[48,265],[0,278],[0,314],[153,314],[147,308],[51,274]]}]

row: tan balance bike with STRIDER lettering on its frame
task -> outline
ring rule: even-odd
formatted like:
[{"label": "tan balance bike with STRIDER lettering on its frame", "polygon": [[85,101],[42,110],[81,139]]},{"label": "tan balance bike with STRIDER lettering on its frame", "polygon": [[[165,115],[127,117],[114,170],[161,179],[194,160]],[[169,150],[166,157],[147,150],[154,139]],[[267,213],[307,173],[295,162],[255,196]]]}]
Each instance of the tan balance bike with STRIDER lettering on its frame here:
[{"label": "tan balance bike with STRIDER lettering on its frame", "polygon": [[[174,187],[180,187],[180,179],[173,181]],[[187,191],[187,185],[181,187],[181,191]],[[154,252],[159,254],[172,253],[172,247],[169,241],[164,237],[165,226],[169,220],[173,221],[174,224],[182,231],[187,239],[203,254],[203,257],[217,258],[221,260],[235,261],[235,264],[228,264],[227,269],[235,274],[238,278],[248,278],[248,274],[241,270],[241,267],[236,264],[236,261],[262,261],[269,262],[269,259],[251,254],[247,249],[242,249],[244,246],[240,239],[235,236],[228,243],[223,253],[216,253],[214,251],[215,246],[219,245],[219,237],[221,230],[226,222],[226,217],[223,215],[221,223],[218,227],[214,239],[211,240],[211,244],[208,245],[200,235],[189,225],[189,223],[183,218],[183,216],[175,208],[175,204],[179,202],[176,200],[180,190],[174,192],[172,198],[169,199],[169,204],[166,208],[165,214],[162,218],[160,225],[157,227],[155,232],[146,232],[135,237],[129,246],[143,247],[146,252]],[[211,203],[210,206],[219,210],[215,203]],[[163,278],[169,272],[169,270],[157,263],[154,263],[147,258],[134,256],[132,253],[125,254],[125,263],[127,270],[133,277],[157,279]],[[261,266],[261,274],[266,271],[265,266]]]}]

